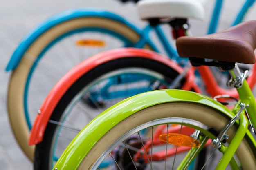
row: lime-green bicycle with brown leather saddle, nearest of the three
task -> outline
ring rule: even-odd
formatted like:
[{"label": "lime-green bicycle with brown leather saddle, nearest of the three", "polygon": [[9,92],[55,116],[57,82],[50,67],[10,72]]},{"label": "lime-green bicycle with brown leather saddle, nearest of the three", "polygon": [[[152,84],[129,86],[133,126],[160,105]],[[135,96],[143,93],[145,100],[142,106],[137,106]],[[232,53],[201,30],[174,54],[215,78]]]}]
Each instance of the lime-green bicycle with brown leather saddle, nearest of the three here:
[{"label": "lime-green bicycle with brown leather saddle, nearest of the three", "polygon": [[[106,159],[112,161],[108,169],[184,170],[201,161],[197,155],[203,148],[209,152],[204,169],[256,169],[256,101],[246,81],[248,71],[241,73],[236,64],[255,63],[256,21],[203,37],[178,38],[176,46],[193,66],[229,71],[227,84],[237,89],[239,99],[174,89],[135,95],[83,128],[54,170],[104,169]],[[231,109],[224,106],[231,103]]]}]

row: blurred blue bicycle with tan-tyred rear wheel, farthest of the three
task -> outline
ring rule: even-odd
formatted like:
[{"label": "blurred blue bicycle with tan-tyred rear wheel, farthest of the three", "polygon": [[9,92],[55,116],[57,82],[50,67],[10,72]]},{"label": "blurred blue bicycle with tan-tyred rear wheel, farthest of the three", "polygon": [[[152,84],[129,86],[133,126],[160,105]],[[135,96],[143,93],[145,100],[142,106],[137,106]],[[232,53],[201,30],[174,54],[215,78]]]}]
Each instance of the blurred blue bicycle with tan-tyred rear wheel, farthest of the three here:
[{"label": "blurred blue bicycle with tan-tyred rear wheel, farthest of the three", "polygon": [[[234,24],[241,22],[254,1],[246,1]],[[216,30],[221,7],[222,0],[217,0],[208,33]],[[114,13],[101,9],[75,9],[49,18],[28,33],[14,51],[6,71],[12,71],[7,96],[9,119],[13,133],[29,159],[33,159],[34,152],[34,147],[27,144],[35,117],[33,113],[56,81],[74,65],[99,51],[136,47],[160,52],[150,39],[151,32],[155,32],[168,56],[177,60],[177,52],[161,28],[166,22],[169,21],[150,21],[139,29]],[[177,62],[186,63],[184,60]],[[39,91],[40,96],[33,95]]]}]

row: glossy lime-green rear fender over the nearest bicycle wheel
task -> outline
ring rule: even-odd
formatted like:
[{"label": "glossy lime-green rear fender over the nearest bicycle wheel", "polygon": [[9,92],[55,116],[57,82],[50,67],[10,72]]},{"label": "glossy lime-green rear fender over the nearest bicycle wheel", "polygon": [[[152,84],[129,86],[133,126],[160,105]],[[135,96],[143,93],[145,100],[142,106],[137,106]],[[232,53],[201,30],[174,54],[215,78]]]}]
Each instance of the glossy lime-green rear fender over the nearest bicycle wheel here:
[{"label": "glossy lime-green rear fender over the nearest bicycle wheel", "polygon": [[[69,146],[67,146],[54,166],[54,170],[77,169],[92,146],[94,146],[94,144],[112,127],[139,110],[166,102],[193,102],[203,104],[221,111],[230,118],[234,117],[234,113],[228,108],[210,97],[199,93],[177,89],[164,89],[141,93],[108,108],[85,126],[72,140]],[[247,130],[247,135],[252,139],[253,145],[256,146],[256,142],[249,130]]]}]

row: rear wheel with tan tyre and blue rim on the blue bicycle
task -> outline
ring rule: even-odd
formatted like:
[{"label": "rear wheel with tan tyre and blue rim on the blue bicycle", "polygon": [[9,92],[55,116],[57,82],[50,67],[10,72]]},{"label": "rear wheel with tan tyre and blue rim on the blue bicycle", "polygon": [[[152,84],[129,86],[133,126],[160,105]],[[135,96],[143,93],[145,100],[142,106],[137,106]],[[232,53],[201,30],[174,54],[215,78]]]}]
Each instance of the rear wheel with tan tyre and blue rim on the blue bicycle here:
[{"label": "rear wheel with tan tyre and blue rim on the blue bicycle", "polygon": [[118,21],[79,17],[53,26],[29,46],[11,74],[7,94],[13,133],[29,159],[34,155],[34,147],[27,144],[31,125],[58,79],[86,57],[132,46],[139,38],[136,31]]}]

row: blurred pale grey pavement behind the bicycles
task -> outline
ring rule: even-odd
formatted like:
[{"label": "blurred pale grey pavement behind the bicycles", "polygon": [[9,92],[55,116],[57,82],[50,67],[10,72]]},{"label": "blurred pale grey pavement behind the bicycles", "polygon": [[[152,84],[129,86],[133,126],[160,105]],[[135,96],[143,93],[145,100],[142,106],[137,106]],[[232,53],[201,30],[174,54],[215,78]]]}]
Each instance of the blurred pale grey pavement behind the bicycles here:
[{"label": "blurred pale grey pavement behind the bicycles", "polygon": [[[222,18],[221,27],[230,25],[230,16],[234,16],[234,11],[242,0],[227,0],[225,12]],[[205,4],[207,8],[207,18],[209,18],[212,0]],[[11,54],[22,37],[34,26],[47,19],[49,16],[80,7],[101,7],[115,12],[132,22],[142,26],[137,16],[135,4],[121,4],[117,0],[0,0],[0,170],[32,170],[32,163],[23,154],[17,145],[9,126],[6,110],[6,93],[10,72],[4,71]],[[256,8],[252,9],[248,19],[256,16]],[[256,19],[256,18],[255,18]],[[208,19],[207,19],[208,20]],[[206,20],[206,21],[207,21]],[[191,21],[191,31],[194,35],[204,35],[207,23],[203,21]]]}]

